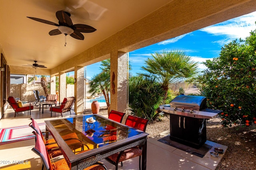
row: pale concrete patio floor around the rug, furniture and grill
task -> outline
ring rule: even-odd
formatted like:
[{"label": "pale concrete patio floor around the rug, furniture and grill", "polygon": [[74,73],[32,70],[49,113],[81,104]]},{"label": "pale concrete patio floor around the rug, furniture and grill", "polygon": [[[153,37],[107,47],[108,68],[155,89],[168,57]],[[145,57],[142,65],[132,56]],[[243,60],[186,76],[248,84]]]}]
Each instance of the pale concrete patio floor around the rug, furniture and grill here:
[{"label": "pale concrete patio floor around the rug, furniture and grill", "polygon": [[[74,116],[69,113],[64,113],[63,117]],[[106,115],[107,116],[107,115]],[[6,127],[15,127],[20,125],[28,125],[31,120],[30,117],[36,119],[38,123],[43,123],[45,120],[60,118],[60,114],[53,113],[53,117],[50,117],[49,107],[44,108],[44,114],[42,110],[39,111],[39,107],[35,107],[31,111],[31,115],[27,111],[19,113],[14,117],[14,111],[10,108],[6,110],[2,119],[0,120],[0,129]],[[31,130],[32,131],[32,130]],[[148,139],[147,144],[147,170],[215,170],[218,163],[222,159],[224,154],[219,154],[218,158],[214,158],[210,155],[210,152],[214,151],[214,147],[220,147],[226,152],[227,147],[207,141],[206,144],[211,145],[212,148],[206,153],[203,158],[190,154],[180,149],[176,149],[170,145],[166,145],[158,141],[162,137],[167,136],[170,131],[165,131],[155,137]],[[32,152],[32,148],[35,145],[34,139],[28,139],[24,141],[8,143],[0,145],[0,169],[2,170],[38,170],[42,168],[42,162]],[[58,160],[61,156],[55,158]],[[28,160],[28,164],[13,164],[13,162],[22,160]],[[10,162],[10,163],[8,163]],[[115,167],[108,163],[106,160],[102,160],[109,170],[114,170]],[[119,170],[138,170],[138,157],[126,160],[123,162],[123,166],[119,165]]]}]

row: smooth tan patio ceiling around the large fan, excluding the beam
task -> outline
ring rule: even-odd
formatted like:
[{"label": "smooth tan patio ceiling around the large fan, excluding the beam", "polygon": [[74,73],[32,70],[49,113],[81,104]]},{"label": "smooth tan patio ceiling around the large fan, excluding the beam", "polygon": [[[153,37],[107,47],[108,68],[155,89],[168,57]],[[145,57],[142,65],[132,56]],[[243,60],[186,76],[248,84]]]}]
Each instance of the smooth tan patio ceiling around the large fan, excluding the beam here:
[{"label": "smooth tan patio ceiling around the large fan, excluding the beam", "polygon": [[[160,8],[169,0],[1,0],[0,44],[12,66],[38,64],[49,69],[78,55],[124,27]],[[58,23],[56,11],[71,14],[73,23],[91,25],[94,33],[84,40],[64,35],[50,36],[57,27],[30,20],[26,16]],[[134,30],[136,31],[136,30]]]}]

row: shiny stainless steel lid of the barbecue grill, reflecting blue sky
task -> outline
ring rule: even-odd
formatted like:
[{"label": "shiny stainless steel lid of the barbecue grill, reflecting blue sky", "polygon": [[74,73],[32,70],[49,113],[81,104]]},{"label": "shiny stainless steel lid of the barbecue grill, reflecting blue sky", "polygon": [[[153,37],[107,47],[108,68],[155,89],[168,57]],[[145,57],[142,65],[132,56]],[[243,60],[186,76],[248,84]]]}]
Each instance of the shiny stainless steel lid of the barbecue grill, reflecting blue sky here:
[{"label": "shiny stainless steel lid of the barbecue grill, reflecting blue sky", "polygon": [[207,107],[206,105],[206,97],[204,96],[185,96],[180,95],[176,96],[170,102],[171,107],[184,107],[185,109],[198,109],[202,110]]}]

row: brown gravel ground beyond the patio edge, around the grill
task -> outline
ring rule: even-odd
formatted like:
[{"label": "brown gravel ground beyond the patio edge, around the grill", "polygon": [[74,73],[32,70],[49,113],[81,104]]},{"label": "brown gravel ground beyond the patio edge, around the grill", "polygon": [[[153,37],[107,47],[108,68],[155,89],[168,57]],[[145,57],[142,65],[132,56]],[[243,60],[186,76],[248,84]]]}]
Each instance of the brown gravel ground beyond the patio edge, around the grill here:
[{"label": "brown gravel ground beyond the patio edge, around the grill", "polygon": [[[91,113],[90,109],[86,113]],[[106,107],[100,108],[100,115],[108,114]],[[164,115],[161,122],[148,124],[146,132],[153,137],[170,129],[169,115]],[[228,150],[216,170],[253,170],[256,169],[256,126],[243,127],[233,125],[222,127],[219,117],[208,120],[206,125],[207,140],[228,146]]]}]

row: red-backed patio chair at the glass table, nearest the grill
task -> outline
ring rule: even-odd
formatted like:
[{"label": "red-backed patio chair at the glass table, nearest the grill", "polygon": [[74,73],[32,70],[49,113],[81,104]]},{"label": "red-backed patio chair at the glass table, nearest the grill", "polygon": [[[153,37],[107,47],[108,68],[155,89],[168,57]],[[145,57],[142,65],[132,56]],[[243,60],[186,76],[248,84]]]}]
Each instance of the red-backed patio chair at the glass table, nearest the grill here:
[{"label": "red-backed patio chair at the glass table, nearest the grill", "polygon": [[[134,127],[141,131],[146,131],[146,127],[148,125],[148,119],[143,119],[140,117],[128,115],[125,125],[128,125],[130,127]],[[137,156],[140,156],[139,158],[139,168],[141,170],[141,155],[142,155],[142,149],[140,146],[132,147],[130,149],[123,150],[121,152],[117,152],[115,154],[112,154],[111,156],[108,156],[105,158],[108,162],[116,166],[116,170],[118,170],[118,163],[121,162],[121,166],[123,166],[122,161],[128,160],[130,158],[135,158]]]}]

